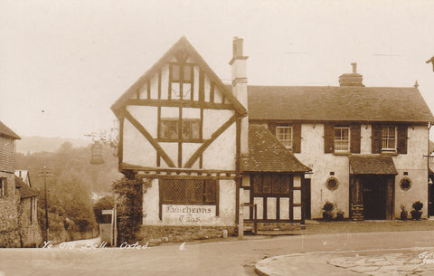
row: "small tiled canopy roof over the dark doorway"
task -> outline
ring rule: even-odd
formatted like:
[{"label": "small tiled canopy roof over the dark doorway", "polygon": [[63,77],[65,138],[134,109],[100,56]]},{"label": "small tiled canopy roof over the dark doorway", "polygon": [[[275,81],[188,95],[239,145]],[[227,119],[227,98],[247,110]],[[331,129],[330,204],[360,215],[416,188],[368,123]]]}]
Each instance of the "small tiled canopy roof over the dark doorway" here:
[{"label": "small tiled canopy roof over the dark doorway", "polygon": [[350,173],[354,175],[398,175],[392,157],[351,156]]}]

